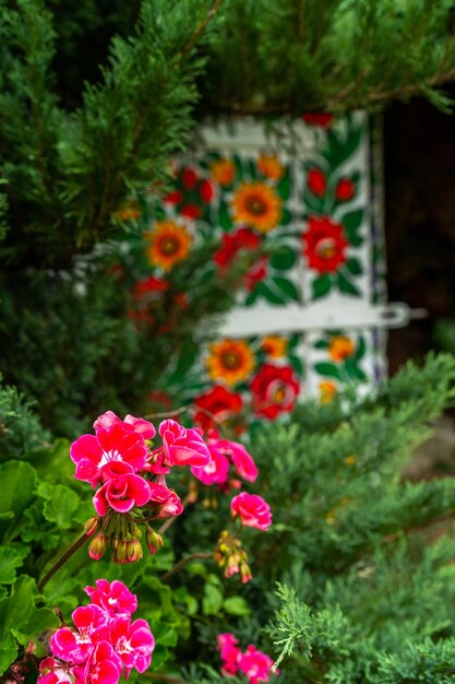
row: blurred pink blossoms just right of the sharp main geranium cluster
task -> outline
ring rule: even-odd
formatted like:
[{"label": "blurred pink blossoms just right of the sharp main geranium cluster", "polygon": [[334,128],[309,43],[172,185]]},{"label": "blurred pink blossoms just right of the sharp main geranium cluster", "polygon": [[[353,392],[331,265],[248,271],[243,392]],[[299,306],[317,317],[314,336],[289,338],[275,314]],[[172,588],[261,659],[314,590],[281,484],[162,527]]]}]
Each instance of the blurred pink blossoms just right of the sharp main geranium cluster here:
[{"label": "blurred pink blossoms just right of the sharp main geranium cluster", "polygon": [[216,429],[211,429],[207,447],[211,456],[208,463],[204,467],[193,465],[191,468],[191,472],[197,480],[206,485],[216,484],[224,491],[231,486],[239,488],[241,486],[240,481],[229,479],[231,464],[242,480],[248,482],[256,480],[258,468],[243,445],[229,439],[220,439],[219,433]]}]

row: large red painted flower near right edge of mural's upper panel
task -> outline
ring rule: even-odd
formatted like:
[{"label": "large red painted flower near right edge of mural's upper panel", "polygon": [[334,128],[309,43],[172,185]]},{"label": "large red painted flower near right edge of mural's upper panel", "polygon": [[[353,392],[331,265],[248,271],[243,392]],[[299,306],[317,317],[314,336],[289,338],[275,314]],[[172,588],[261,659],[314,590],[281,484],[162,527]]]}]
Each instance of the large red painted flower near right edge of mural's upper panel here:
[{"label": "large red painted flower near right edge of mural's upper panel", "polygon": [[326,216],[311,216],[303,235],[303,252],[308,266],[319,273],[333,273],[346,263],[346,239],[343,225]]}]

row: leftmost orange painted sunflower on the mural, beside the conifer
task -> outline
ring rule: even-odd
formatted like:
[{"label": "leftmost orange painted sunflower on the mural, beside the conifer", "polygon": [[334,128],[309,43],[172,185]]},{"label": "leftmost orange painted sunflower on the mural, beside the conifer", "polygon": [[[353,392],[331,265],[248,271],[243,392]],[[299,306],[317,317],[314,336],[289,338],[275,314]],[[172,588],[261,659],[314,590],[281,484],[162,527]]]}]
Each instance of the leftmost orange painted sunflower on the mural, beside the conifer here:
[{"label": "leftmost orange painted sunflower on the mural, beside the conifer", "polygon": [[187,228],[175,221],[157,221],[154,231],[146,233],[145,237],[149,241],[148,261],[164,271],[169,271],[188,256],[192,241]]}]

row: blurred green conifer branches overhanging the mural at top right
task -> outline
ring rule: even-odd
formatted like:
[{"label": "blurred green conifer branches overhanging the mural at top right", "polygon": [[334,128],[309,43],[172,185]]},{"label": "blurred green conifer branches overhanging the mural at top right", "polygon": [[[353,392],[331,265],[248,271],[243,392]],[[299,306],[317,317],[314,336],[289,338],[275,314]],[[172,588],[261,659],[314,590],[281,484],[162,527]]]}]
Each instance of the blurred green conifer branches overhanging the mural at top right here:
[{"label": "blurred green conifer branches overhanging the mural at top right", "polygon": [[451,0],[227,0],[223,19],[204,82],[212,109],[345,111],[417,94],[447,108]]}]

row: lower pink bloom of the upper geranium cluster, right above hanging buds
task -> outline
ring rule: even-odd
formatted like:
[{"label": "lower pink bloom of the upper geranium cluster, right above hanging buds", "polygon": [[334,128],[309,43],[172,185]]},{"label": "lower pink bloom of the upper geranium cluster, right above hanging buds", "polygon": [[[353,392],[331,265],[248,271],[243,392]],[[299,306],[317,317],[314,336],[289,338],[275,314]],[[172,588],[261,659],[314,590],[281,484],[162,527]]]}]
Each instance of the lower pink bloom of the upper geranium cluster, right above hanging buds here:
[{"label": "lower pink bloom of the upper geranium cluster, right above hanging buds", "polygon": [[105,516],[109,508],[117,512],[128,512],[134,506],[145,506],[151,498],[149,484],[141,475],[132,472],[128,463],[113,462],[106,467],[107,482],[93,497],[98,516]]}]

